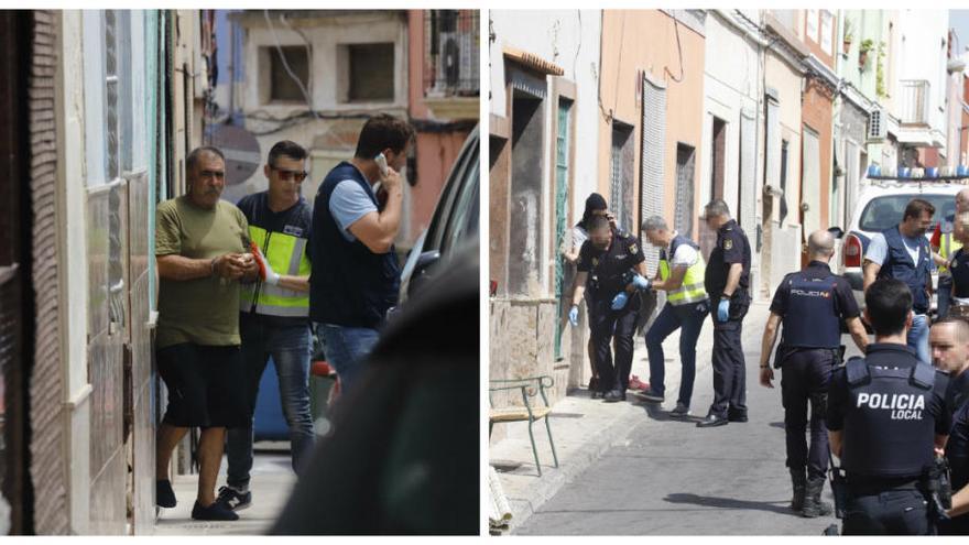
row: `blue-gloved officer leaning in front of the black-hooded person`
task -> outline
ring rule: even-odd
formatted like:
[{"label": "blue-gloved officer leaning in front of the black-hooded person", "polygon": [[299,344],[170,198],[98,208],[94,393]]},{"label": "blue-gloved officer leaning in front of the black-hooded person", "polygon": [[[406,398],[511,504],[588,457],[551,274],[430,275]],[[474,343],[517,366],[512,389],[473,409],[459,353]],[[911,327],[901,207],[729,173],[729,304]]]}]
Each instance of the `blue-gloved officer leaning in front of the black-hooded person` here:
[{"label": "blue-gloved officer leaning in front of the black-hooded person", "polygon": [[[614,230],[606,217],[596,216],[590,220],[589,239],[579,250],[568,320],[573,326],[578,324],[578,305],[588,281],[588,288],[592,290],[590,317],[599,389],[607,402],[624,401],[629,388],[633,334],[640,308],[636,288],[649,287],[649,282],[643,277],[646,272],[644,261],[635,237]],[[639,275],[633,274],[632,270]],[[617,297],[620,294],[623,296]],[[614,366],[611,353],[613,337]]]}]

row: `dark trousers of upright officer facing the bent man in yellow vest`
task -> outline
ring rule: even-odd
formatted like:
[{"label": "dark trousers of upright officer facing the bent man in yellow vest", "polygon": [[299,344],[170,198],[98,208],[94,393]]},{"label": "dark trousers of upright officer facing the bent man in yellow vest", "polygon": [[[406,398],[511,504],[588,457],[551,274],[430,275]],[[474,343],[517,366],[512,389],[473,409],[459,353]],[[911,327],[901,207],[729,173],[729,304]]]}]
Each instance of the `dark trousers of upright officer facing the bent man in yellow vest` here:
[{"label": "dark trousers of upright officer facing the bent man in yellow vest", "polygon": [[723,418],[728,415],[745,416],[747,369],[740,339],[743,317],[750,303],[731,301],[726,323],[717,321],[717,303],[711,299],[710,304],[710,317],[714,319],[714,403],[709,413]]}]

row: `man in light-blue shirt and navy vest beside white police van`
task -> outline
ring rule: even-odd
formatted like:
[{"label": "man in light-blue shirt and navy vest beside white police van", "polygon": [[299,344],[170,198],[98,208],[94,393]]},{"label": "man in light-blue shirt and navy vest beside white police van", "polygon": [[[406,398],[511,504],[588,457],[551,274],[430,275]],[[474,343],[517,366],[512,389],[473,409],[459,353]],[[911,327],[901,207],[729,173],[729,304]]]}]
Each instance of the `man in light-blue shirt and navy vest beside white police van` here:
[{"label": "man in light-blue shirt and navy vest beside white police van", "polygon": [[932,227],[935,207],[915,198],[905,207],[902,222],[871,238],[864,253],[864,290],[877,279],[895,279],[912,292],[914,318],[908,330],[908,346],[923,362],[932,361],[928,352],[928,308],[932,298],[932,249],[925,232]]}]

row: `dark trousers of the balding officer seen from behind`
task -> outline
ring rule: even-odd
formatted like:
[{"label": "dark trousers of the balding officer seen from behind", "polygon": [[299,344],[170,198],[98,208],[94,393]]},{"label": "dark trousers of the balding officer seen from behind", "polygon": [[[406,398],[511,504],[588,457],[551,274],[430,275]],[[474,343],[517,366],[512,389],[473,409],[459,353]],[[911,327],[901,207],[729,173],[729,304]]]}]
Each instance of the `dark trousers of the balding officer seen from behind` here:
[{"label": "dark trousers of the balding officer seen from behind", "polygon": [[[804,470],[810,478],[824,478],[828,470],[828,428],[825,426],[828,382],[835,356],[825,349],[791,349],[779,353],[784,433],[787,436],[787,467]],[[808,417],[808,404],[810,416]],[[810,446],[805,440],[810,421]]]}]

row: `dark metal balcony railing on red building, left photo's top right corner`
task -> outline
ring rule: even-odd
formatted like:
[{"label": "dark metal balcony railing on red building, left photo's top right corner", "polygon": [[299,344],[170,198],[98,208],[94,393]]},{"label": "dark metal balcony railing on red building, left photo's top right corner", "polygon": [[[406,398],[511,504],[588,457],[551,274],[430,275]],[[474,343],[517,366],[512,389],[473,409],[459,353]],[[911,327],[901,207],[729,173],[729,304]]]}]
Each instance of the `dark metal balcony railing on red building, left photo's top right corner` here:
[{"label": "dark metal balcony railing on red building, left photo's top right corner", "polygon": [[479,94],[478,10],[427,10],[424,17],[424,94]]}]

